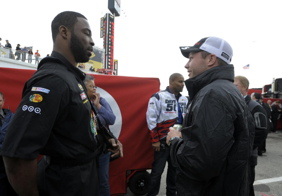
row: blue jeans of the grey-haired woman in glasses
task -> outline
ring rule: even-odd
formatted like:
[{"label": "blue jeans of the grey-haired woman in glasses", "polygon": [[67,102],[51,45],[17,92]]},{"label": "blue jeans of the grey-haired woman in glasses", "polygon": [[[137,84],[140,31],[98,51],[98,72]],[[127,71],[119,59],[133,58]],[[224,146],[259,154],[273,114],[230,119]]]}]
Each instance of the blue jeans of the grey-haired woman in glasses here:
[{"label": "blue jeans of the grey-haired woman in glasses", "polygon": [[110,196],[110,185],[109,185],[109,163],[111,153],[102,153],[99,156],[100,166],[100,196]]}]

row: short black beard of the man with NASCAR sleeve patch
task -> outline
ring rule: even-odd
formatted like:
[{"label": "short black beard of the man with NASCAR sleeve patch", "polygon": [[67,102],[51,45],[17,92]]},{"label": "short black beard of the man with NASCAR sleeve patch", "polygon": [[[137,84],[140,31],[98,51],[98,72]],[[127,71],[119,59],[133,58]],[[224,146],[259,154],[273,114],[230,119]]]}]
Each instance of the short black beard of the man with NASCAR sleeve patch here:
[{"label": "short black beard of the man with NASCAR sleeve patch", "polygon": [[89,61],[90,57],[87,55],[87,49],[83,47],[81,41],[74,34],[74,32],[71,32],[70,50],[73,53],[75,62],[88,62]]}]

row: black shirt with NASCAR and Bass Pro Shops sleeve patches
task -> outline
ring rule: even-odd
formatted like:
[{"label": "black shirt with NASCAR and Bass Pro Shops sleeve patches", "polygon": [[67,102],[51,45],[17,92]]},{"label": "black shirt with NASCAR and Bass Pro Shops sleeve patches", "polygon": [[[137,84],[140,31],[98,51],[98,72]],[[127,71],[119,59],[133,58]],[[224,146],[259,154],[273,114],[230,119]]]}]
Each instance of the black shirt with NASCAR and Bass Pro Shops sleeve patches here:
[{"label": "black shirt with NASCAR and Bass Pro Shops sleeve patches", "polygon": [[42,59],[24,86],[0,154],[33,159],[38,154],[80,158],[92,153],[97,140],[84,78],[57,52]]}]

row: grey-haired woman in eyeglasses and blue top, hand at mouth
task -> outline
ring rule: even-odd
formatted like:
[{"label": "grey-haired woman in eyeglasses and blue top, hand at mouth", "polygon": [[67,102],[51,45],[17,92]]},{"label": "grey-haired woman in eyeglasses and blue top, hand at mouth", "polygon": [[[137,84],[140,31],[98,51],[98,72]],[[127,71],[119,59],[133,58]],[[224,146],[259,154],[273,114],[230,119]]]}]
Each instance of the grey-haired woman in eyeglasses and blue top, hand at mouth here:
[{"label": "grey-haired woman in eyeglasses and blue top, hand at mouth", "polygon": [[[115,123],[115,114],[112,108],[104,99],[100,97],[100,94],[96,92],[96,86],[94,82],[95,78],[92,75],[86,75],[84,84],[87,88],[87,94],[90,98],[91,103],[94,106],[95,111],[100,117],[101,123],[108,127]],[[102,153],[99,156],[100,166],[100,196],[110,196],[110,185],[109,185],[109,162],[111,152],[106,154]]]}]

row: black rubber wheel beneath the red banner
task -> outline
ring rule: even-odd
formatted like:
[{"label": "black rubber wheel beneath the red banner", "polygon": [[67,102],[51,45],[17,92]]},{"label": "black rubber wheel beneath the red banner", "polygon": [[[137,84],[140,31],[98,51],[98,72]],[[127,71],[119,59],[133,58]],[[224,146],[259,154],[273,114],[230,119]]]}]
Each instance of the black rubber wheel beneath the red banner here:
[{"label": "black rubber wheel beneath the red banner", "polygon": [[128,182],[130,191],[135,195],[145,195],[148,192],[150,173],[147,171],[137,171],[131,176]]}]

